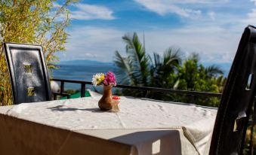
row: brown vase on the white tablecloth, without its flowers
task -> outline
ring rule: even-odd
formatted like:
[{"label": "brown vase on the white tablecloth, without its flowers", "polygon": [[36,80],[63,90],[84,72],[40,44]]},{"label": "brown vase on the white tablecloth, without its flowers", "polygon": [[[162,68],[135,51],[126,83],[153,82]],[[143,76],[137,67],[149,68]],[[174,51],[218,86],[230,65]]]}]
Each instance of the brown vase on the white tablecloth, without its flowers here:
[{"label": "brown vase on the white tablecloth, without its flowers", "polygon": [[103,85],[103,96],[98,102],[98,106],[101,111],[109,111],[113,108],[113,99],[112,99],[112,87],[111,85]]}]

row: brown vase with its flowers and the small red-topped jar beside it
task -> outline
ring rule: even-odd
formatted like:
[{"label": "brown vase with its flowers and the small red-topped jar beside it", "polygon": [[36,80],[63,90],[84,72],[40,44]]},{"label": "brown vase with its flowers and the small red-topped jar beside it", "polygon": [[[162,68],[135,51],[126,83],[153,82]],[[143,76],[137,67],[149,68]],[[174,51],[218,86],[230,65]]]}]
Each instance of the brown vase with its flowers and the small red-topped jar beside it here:
[{"label": "brown vase with its flowers and the small red-topped jar beside it", "polygon": [[119,111],[119,97],[112,96],[112,87],[116,86],[116,76],[113,72],[109,71],[106,74],[94,74],[91,83],[96,87],[103,85],[103,96],[98,102],[98,106],[102,111]]}]

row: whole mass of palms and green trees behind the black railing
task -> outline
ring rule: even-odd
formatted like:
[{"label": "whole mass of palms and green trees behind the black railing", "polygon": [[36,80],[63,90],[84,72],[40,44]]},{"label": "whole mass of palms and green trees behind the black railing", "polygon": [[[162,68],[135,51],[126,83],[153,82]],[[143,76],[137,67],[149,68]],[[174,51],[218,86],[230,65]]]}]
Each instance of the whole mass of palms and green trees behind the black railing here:
[{"label": "whole mass of palms and green trees behind the black railing", "polygon": [[[226,82],[223,71],[216,65],[205,67],[199,63],[199,55],[191,54],[182,60],[182,52],[178,48],[170,47],[163,56],[153,53],[148,55],[140,43],[137,34],[125,35],[122,38],[127,44],[126,56],[116,51],[114,63],[117,66],[119,84],[132,86],[162,87],[178,90],[191,90],[221,93]],[[145,96],[141,91],[122,90],[125,95]],[[168,93],[147,92],[147,97],[153,99],[171,100],[179,102],[196,102],[199,105],[217,106],[219,99],[193,98]],[[192,98],[191,98],[192,97]],[[193,101],[192,101],[193,100]]]}]

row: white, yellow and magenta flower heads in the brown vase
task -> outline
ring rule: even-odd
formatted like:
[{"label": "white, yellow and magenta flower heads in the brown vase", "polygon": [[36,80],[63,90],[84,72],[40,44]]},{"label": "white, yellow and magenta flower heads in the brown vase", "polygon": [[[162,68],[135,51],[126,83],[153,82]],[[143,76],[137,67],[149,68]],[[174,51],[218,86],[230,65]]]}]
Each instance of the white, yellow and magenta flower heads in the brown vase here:
[{"label": "white, yellow and magenta flower heads in the brown vase", "polygon": [[103,73],[97,73],[94,74],[91,83],[94,85],[94,87],[98,84],[104,84],[106,86],[116,86],[116,76],[111,71],[107,72],[106,75]]}]

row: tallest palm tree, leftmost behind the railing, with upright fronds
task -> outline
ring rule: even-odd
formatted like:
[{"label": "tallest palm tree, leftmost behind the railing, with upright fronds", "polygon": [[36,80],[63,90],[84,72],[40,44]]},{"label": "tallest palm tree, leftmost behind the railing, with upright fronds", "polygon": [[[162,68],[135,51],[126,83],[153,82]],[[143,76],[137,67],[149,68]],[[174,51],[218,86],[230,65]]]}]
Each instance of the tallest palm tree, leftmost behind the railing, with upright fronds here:
[{"label": "tallest palm tree, leftmost behind the railing, with upright fronds", "polygon": [[116,76],[121,84],[148,86],[150,81],[150,57],[146,54],[137,33],[122,37],[126,43],[127,56],[123,57],[116,51]]}]

